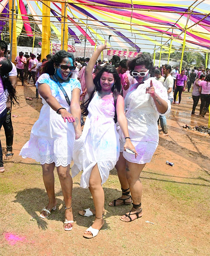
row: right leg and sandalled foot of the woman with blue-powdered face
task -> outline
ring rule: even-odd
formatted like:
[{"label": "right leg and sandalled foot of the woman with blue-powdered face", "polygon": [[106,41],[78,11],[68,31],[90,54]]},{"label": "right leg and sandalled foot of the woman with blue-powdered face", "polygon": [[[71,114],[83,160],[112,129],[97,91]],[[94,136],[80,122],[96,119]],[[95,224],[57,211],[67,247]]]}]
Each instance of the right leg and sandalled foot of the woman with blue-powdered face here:
[{"label": "right leg and sandalled foot of the woman with blue-powdered face", "polygon": [[[69,173],[69,169],[70,169],[70,165],[67,165],[66,167],[63,167],[60,165],[57,167],[58,177],[60,180],[66,208],[71,207],[71,195],[72,195],[72,184],[73,184],[71,175]],[[65,218],[67,220],[73,220],[72,207],[70,209],[65,210]],[[64,228],[71,228],[72,226],[73,226],[73,223],[69,223]]]}]

